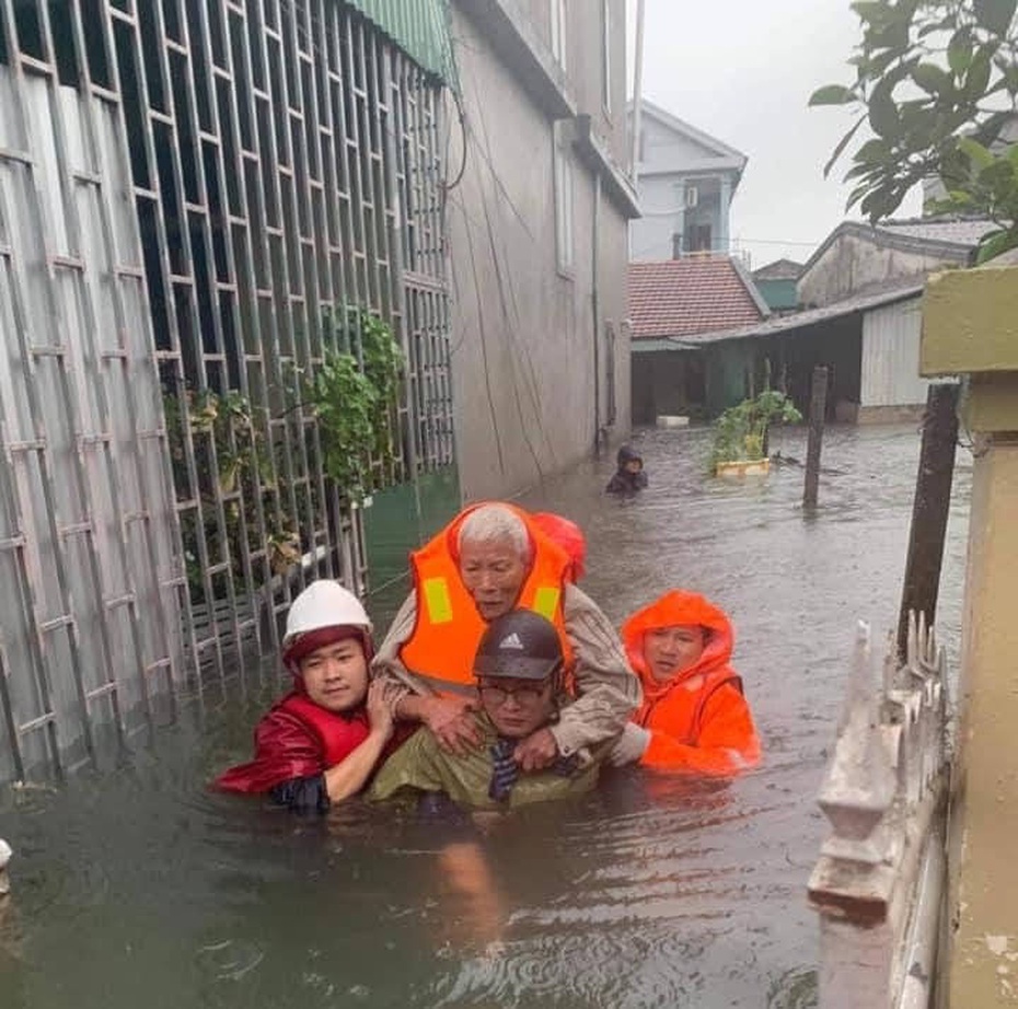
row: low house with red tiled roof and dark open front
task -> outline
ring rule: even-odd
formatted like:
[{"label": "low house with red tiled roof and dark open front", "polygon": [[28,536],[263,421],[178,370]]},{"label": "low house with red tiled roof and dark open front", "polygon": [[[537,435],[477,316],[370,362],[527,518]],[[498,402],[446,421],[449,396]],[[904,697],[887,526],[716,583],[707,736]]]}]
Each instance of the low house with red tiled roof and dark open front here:
[{"label": "low house with red tiled roof and dark open front", "polygon": [[728,256],[631,263],[633,421],[713,415],[749,395],[753,348],[705,355],[701,343],[757,325],[767,312],[752,278]]}]

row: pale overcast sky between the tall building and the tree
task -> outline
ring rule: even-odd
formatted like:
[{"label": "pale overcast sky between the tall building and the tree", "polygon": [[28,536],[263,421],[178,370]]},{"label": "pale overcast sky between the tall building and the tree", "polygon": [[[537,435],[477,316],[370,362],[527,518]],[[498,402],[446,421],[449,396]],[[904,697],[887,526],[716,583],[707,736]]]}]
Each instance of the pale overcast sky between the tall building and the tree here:
[{"label": "pale overcast sky between the tall building and the tree", "polygon": [[[848,2],[645,0],[643,94],[749,158],[731,234],[754,269],[805,262],[845,218],[848,162],[828,181],[823,165],[851,120],[806,103],[821,84],[851,80],[860,33]],[[635,9],[629,0],[631,47]],[[895,216],[918,212],[916,196]]]}]

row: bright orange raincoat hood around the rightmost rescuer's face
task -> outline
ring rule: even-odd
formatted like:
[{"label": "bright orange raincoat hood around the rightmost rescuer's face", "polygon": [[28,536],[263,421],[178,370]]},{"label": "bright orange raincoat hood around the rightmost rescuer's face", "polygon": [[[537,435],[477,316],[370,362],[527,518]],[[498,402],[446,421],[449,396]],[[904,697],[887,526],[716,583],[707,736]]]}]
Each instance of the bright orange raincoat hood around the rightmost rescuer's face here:
[{"label": "bright orange raincoat hood around the rightmost rescuer's face", "polygon": [[[644,635],[648,630],[674,627],[676,624],[699,624],[710,631],[710,637],[703,654],[693,665],[667,683],[661,683],[655,680],[644,656]],[[626,658],[644,685],[645,698],[653,700],[678,683],[725,670],[731,659],[734,634],[725,612],[714,603],[696,592],[674,589],[634,613],[622,625],[622,640]]]}]

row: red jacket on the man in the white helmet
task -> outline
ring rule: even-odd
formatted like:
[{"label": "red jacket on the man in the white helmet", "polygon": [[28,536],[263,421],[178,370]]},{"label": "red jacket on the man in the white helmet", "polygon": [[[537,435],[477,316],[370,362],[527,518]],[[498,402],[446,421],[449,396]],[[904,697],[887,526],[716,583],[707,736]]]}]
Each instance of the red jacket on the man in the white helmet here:
[{"label": "red jacket on the man in the white helmet", "polygon": [[277,701],[255,728],[255,758],[216,780],[235,792],[267,792],[293,778],[306,778],[340,763],[367,738],[363,706],[337,715],[300,691]]}]

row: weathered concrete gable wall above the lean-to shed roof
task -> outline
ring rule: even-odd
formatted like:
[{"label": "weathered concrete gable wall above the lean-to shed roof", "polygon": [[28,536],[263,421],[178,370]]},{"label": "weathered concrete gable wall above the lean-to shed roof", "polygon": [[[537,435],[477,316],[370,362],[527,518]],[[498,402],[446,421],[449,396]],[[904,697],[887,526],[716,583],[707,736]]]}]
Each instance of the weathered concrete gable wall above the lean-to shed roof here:
[{"label": "weathered concrete gable wall above the lean-to shed roof", "polygon": [[859,235],[842,234],[799,278],[799,303],[831,304],[868,285],[921,276],[951,263],[944,256],[881,247]]}]

